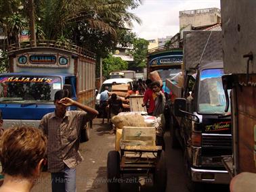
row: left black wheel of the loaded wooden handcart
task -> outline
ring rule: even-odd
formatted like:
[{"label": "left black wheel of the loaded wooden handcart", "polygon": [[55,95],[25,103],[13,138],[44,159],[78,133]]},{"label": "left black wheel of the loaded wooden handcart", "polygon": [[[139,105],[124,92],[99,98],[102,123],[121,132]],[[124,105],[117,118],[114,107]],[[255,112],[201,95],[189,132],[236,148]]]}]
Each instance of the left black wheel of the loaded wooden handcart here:
[{"label": "left black wheel of the loaded wooden handcart", "polygon": [[107,160],[108,191],[120,191],[120,154],[119,151],[108,152]]}]

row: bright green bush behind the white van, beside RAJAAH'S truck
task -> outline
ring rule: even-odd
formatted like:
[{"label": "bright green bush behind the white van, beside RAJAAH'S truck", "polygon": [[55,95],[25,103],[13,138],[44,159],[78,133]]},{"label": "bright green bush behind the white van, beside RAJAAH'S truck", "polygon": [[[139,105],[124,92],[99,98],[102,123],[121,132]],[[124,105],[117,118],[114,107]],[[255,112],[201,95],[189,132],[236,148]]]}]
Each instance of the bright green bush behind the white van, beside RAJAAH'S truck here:
[{"label": "bright green bush behind the white van, beside RAJAAH'S truck", "polygon": [[102,70],[103,76],[108,77],[110,72],[127,70],[128,63],[123,61],[120,57],[114,57],[113,55],[108,55],[102,60]]}]

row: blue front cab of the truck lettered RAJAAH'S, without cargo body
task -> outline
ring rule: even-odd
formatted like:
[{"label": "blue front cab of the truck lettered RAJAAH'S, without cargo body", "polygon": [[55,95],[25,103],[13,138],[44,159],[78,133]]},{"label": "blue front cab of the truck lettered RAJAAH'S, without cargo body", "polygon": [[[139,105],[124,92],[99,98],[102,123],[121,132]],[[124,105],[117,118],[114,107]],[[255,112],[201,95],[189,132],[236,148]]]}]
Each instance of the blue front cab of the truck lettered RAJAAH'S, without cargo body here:
[{"label": "blue front cab of the truck lettered RAJAAH'S, without cargo body", "polygon": [[29,72],[0,75],[0,108],[4,127],[18,124],[37,127],[43,116],[53,112],[56,91],[70,87],[77,98],[76,78],[71,74],[34,74]]}]

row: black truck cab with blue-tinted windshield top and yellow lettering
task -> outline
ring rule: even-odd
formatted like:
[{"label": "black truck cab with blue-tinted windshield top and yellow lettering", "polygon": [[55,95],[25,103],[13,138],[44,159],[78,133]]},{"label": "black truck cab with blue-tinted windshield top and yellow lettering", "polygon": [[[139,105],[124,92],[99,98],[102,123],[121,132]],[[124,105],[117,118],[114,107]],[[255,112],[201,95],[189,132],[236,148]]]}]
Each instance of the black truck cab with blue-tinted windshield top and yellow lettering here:
[{"label": "black truck cab with blue-tinted windshield top and yellow lettering", "polygon": [[231,118],[224,112],[223,62],[210,62],[186,74],[182,98],[174,101],[173,133],[184,149],[191,182],[228,184],[221,162],[232,155]]}]

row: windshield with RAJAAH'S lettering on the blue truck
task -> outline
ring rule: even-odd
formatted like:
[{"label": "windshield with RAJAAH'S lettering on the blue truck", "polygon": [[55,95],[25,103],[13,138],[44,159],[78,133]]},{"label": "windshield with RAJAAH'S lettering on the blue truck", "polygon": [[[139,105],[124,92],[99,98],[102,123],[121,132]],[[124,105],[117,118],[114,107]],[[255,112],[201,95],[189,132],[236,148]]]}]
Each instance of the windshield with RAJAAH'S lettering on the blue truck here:
[{"label": "windshield with RAJAAH'S lettering on the blue truck", "polygon": [[61,78],[53,76],[0,76],[1,103],[54,101],[61,89]]}]

